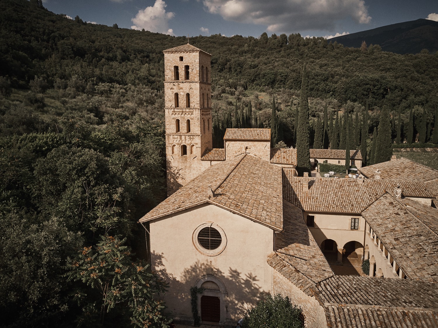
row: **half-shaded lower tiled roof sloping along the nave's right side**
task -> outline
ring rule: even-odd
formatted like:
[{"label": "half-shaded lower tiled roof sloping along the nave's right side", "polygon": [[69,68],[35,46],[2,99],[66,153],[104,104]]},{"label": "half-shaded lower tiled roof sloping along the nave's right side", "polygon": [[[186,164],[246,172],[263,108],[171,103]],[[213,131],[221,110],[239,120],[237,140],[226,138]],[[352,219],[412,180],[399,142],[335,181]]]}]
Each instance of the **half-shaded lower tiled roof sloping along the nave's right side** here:
[{"label": "half-shaded lower tiled roof sloping along the nave's right side", "polygon": [[316,283],[333,271],[304,223],[300,208],[283,201],[283,231],[276,235],[276,252],[285,264]]}]

